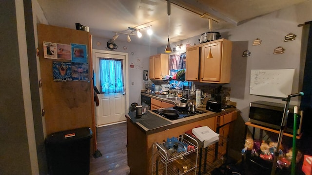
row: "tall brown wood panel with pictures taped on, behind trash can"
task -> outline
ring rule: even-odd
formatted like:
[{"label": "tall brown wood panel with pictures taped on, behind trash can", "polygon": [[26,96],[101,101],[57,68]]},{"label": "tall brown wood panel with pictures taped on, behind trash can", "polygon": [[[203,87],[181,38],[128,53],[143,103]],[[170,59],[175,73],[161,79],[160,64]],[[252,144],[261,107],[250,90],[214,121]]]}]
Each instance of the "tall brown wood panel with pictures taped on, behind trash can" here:
[{"label": "tall brown wood panel with pictures taped on, behind trash can", "polygon": [[[92,122],[94,100],[93,85],[91,83],[92,64],[90,63],[92,63],[92,57],[90,56],[90,34],[85,31],[44,24],[38,24],[37,27],[46,133],[51,134],[80,127],[90,127],[95,132]],[[70,62],[71,60],[45,59],[43,56],[43,41],[87,45],[90,81],[54,82],[53,61]],[[93,148],[93,145],[91,145],[91,148]]]}]

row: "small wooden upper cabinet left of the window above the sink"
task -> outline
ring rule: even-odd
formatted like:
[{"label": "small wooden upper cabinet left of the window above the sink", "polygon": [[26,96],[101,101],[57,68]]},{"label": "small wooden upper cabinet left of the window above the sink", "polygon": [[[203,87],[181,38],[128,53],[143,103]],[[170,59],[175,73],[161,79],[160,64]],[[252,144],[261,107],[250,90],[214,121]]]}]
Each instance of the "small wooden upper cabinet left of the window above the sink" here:
[{"label": "small wooden upper cabinet left of the window above the sink", "polygon": [[168,54],[156,54],[150,56],[150,79],[161,80],[164,75],[169,73],[169,55]]}]

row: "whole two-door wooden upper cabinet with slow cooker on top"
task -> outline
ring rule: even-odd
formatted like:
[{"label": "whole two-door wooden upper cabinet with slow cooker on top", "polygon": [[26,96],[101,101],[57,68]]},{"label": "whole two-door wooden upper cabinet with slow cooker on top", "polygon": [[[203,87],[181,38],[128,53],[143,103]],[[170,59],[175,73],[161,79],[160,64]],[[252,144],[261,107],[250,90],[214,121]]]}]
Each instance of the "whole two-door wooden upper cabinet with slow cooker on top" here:
[{"label": "whole two-door wooden upper cabinet with slow cooker on top", "polygon": [[[209,52],[211,58],[208,58]],[[188,47],[185,79],[202,83],[230,83],[231,60],[232,42],[227,39]]]}]

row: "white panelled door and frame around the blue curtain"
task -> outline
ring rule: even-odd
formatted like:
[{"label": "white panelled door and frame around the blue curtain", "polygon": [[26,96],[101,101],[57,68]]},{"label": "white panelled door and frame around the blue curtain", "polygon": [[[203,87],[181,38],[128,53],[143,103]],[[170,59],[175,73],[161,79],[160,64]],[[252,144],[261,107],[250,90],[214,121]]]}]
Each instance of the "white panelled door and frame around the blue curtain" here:
[{"label": "white panelled door and frame around the blue curtain", "polygon": [[99,106],[96,107],[96,125],[104,126],[111,123],[125,121],[126,106],[129,99],[126,94],[128,90],[128,53],[112,51],[93,50],[93,69],[95,72],[96,87],[100,91],[99,60],[101,58],[113,58],[122,60],[124,92],[121,93],[100,93],[98,94]]}]

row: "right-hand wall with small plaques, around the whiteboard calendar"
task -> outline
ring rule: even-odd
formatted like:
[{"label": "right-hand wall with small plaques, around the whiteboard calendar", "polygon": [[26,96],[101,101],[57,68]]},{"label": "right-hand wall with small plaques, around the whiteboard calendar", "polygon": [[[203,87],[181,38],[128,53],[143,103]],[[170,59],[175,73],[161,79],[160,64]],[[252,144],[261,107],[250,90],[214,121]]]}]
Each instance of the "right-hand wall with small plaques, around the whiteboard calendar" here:
[{"label": "right-hand wall with small plaques, around the whiteboard calendar", "polygon": [[[250,70],[254,69],[295,69],[292,93],[297,93],[300,70],[300,48],[302,27],[298,24],[304,21],[297,20],[296,7],[271,13],[255,18],[228,31],[229,39],[233,41],[232,78],[228,87],[231,87],[231,101],[237,102],[237,108],[241,110],[244,121],[249,114],[249,103],[256,100],[284,103],[280,99],[249,95]],[[309,20],[309,19],[307,19]],[[284,42],[284,37],[293,33],[296,39]],[[262,44],[253,46],[253,40],[260,38]],[[282,46],[283,54],[273,54],[273,50]],[[245,50],[251,52],[251,56],[242,57]],[[293,105],[299,105],[298,98],[292,99]]]}]

